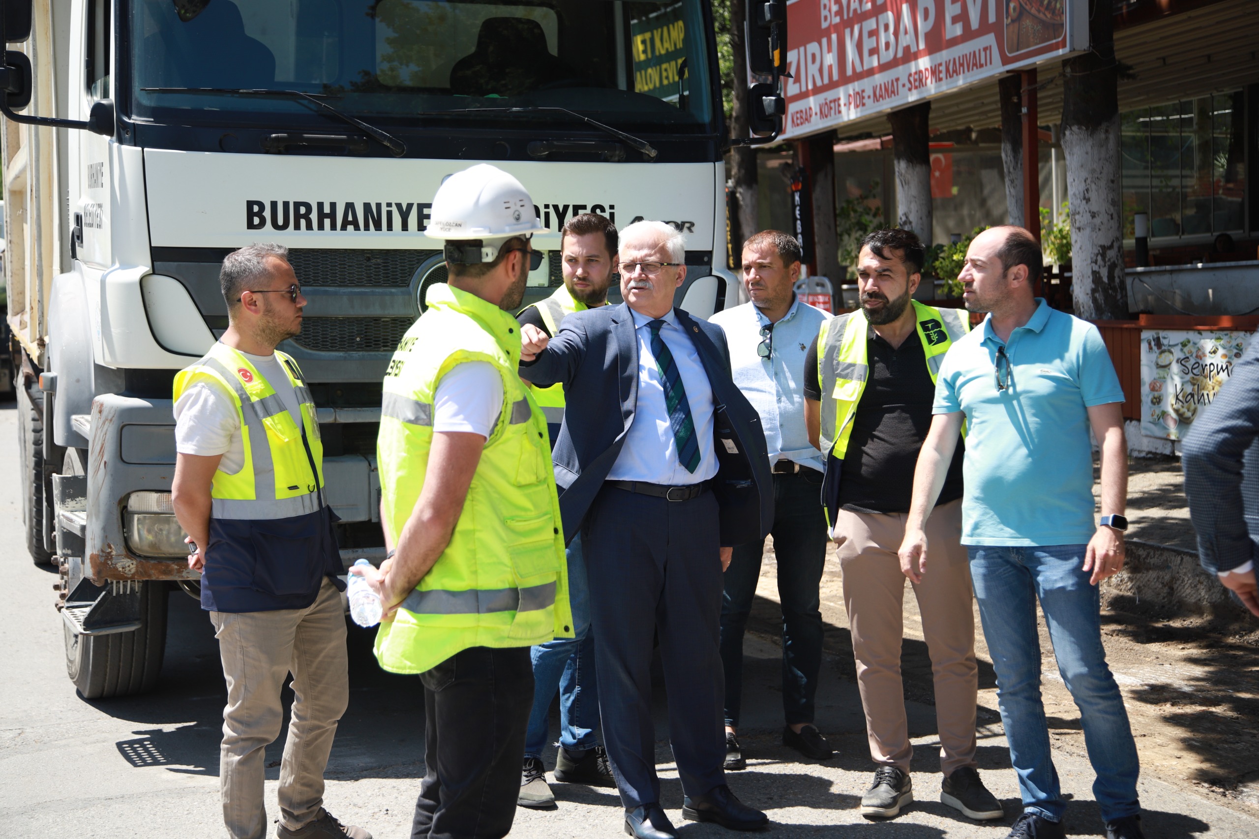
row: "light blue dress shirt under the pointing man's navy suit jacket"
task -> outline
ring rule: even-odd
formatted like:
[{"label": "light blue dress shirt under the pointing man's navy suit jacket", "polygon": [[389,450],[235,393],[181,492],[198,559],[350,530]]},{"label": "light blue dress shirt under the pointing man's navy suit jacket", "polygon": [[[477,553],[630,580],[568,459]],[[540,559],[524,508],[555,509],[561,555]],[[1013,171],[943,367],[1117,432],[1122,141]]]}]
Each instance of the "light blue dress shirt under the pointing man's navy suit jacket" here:
[{"label": "light blue dress shirt under the pointing man's navy suit jacket", "polygon": [[699,351],[681,326],[677,316],[670,310],[661,320],[660,338],[674,354],[674,363],[686,389],[686,401],[691,406],[691,420],[695,422],[695,435],[700,445],[700,465],[694,472],[677,460],[677,443],[674,440],[674,426],[669,421],[669,407],[665,404],[665,385],[656,367],[656,357],[651,351],[652,317],[633,314],[633,331],[638,340],[638,403],[635,406],[633,422],[626,433],[624,446],[617,456],[617,462],[608,472],[611,481],[645,481],[647,484],[666,484],[685,486],[699,484],[716,475],[716,452],[713,451],[713,387],[708,373],[700,362]]}]

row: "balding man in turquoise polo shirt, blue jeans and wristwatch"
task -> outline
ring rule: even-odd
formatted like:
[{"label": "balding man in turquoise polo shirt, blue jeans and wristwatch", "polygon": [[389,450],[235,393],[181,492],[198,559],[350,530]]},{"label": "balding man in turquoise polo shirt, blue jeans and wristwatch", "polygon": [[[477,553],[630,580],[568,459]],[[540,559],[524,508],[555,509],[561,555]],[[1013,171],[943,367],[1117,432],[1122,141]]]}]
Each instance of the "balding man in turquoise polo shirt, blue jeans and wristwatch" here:
[{"label": "balding man in turquoise polo shirt, blue jeans and wristwatch", "polygon": [[[1098,583],[1123,568],[1123,391],[1097,328],[1034,297],[1040,272],[1040,244],[1022,228],[985,231],[967,251],[959,277],[966,307],[990,315],[953,344],[940,367],[900,563],[917,583],[937,561],[923,523],[964,418],[962,544],[1024,802],[1010,839],[1064,836],[1066,802],[1040,695],[1037,600],[1080,709],[1107,836],[1143,839],[1137,748],[1105,663],[1098,593]],[[1097,525],[1090,427],[1102,454]]]}]

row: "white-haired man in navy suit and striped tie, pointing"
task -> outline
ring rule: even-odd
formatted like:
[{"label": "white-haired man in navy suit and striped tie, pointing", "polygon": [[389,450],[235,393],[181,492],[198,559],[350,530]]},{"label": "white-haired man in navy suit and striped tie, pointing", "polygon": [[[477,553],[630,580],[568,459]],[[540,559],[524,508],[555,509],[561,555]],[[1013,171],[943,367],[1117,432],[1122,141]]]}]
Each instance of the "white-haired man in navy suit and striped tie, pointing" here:
[{"label": "white-haired man in navy suit and striped tie, pointing", "polygon": [[754,830],[765,814],[730,792],[721,768],[719,631],[733,545],[759,542],[773,522],[765,438],[730,378],[725,333],[674,309],[681,234],[631,224],[619,256],[626,302],[569,315],[549,340],[522,326],[520,365],[534,384],[564,385],[555,482],[564,538],[580,532],[585,549],[604,742],[626,831],[675,836],[651,721],[658,634],[682,816]]}]

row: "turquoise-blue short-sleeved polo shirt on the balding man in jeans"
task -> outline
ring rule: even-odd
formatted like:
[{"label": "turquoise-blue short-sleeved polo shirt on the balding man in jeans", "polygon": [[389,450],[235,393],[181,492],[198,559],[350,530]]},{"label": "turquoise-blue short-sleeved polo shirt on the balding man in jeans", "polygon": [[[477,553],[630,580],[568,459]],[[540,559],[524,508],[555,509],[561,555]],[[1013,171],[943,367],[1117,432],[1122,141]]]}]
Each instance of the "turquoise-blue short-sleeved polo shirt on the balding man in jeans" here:
[{"label": "turquoise-blue short-sleeved polo shirt on the balding man in jeans", "polygon": [[[962,544],[1084,544],[1097,530],[1087,408],[1123,389],[1097,326],[1036,304],[1008,343],[988,315],[940,367],[932,412],[966,413]],[[1002,345],[1011,374],[997,391]]]}]

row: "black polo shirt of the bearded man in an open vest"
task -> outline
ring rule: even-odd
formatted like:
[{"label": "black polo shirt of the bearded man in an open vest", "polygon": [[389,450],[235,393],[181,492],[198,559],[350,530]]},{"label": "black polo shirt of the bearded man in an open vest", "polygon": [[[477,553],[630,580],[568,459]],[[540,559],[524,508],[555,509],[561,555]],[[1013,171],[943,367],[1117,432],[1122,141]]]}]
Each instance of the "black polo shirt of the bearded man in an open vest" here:
[{"label": "black polo shirt of the bearded man in an open vest", "polygon": [[[874,329],[867,333],[870,378],[852,417],[838,503],[856,513],[908,513],[918,451],[932,425],[935,385],[918,335],[893,348]],[[822,398],[816,338],[805,359],[805,398]],[[962,498],[963,451],[958,441],[937,504]]]}]

